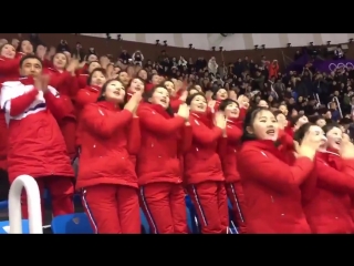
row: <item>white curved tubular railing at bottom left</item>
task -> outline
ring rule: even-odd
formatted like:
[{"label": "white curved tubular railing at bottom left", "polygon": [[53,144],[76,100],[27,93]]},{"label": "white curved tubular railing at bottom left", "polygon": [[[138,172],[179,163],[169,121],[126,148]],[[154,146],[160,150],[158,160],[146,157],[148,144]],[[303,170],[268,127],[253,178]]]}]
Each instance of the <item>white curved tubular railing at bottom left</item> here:
[{"label": "white curved tubular railing at bottom left", "polygon": [[30,175],[20,175],[9,192],[10,234],[22,234],[21,193],[24,187],[29,208],[30,234],[43,234],[41,197],[37,182]]}]

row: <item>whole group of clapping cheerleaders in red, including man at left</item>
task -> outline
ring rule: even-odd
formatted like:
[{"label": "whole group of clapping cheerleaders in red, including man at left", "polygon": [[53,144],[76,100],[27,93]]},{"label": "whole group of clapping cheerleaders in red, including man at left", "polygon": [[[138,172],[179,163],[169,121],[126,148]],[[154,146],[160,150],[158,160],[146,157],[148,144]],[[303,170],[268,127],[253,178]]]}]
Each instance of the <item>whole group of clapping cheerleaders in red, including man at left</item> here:
[{"label": "whole group of clapping cheerleaders in red, including man at left", "polygon": [[54,216],[74,212],[77,191],[95,233],[140,233],[142,208],[153,233],[184,234],[189,195],[202,234],[229,232],[228,200],[240,233],[354,232],[354,146],[339,124],[32,52],[0,49],[0,161],[10,182],[50,191]]}]

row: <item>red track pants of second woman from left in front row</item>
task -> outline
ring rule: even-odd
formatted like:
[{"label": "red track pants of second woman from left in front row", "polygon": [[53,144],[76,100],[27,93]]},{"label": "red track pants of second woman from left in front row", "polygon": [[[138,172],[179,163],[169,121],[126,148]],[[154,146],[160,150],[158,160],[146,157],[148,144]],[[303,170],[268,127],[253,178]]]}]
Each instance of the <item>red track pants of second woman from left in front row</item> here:
[{"label": "red track pants of second woman from left in front row", "polygon": [[147,184],[140,187],[139,196],[152,233],[188,233],[185,192],[181,184]]}]

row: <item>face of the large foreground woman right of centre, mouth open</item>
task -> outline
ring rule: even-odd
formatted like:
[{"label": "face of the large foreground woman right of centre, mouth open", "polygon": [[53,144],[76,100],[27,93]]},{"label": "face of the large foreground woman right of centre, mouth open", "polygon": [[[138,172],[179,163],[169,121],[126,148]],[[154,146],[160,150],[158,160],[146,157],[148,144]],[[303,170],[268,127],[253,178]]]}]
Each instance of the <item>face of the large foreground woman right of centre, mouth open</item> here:
[{"label": "face of the large foreground woman right of centre, mouth open", "polygon": [[279,123],[272,112],[262,110],[257,113],[252,127],[247,127],[258,140],[277,141]]}]

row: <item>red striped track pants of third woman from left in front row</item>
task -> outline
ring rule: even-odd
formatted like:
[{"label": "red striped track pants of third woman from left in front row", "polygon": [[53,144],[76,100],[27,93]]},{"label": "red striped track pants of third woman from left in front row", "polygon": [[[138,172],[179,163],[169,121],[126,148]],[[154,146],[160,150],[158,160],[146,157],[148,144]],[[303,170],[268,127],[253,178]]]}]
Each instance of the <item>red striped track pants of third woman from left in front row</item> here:
[{"label": "red striped track pants of third woman from left in front row", "polygon": [[229,228],[227,194],[223,182],[207,181],[187,187],[202,234],[226,234]]}]

